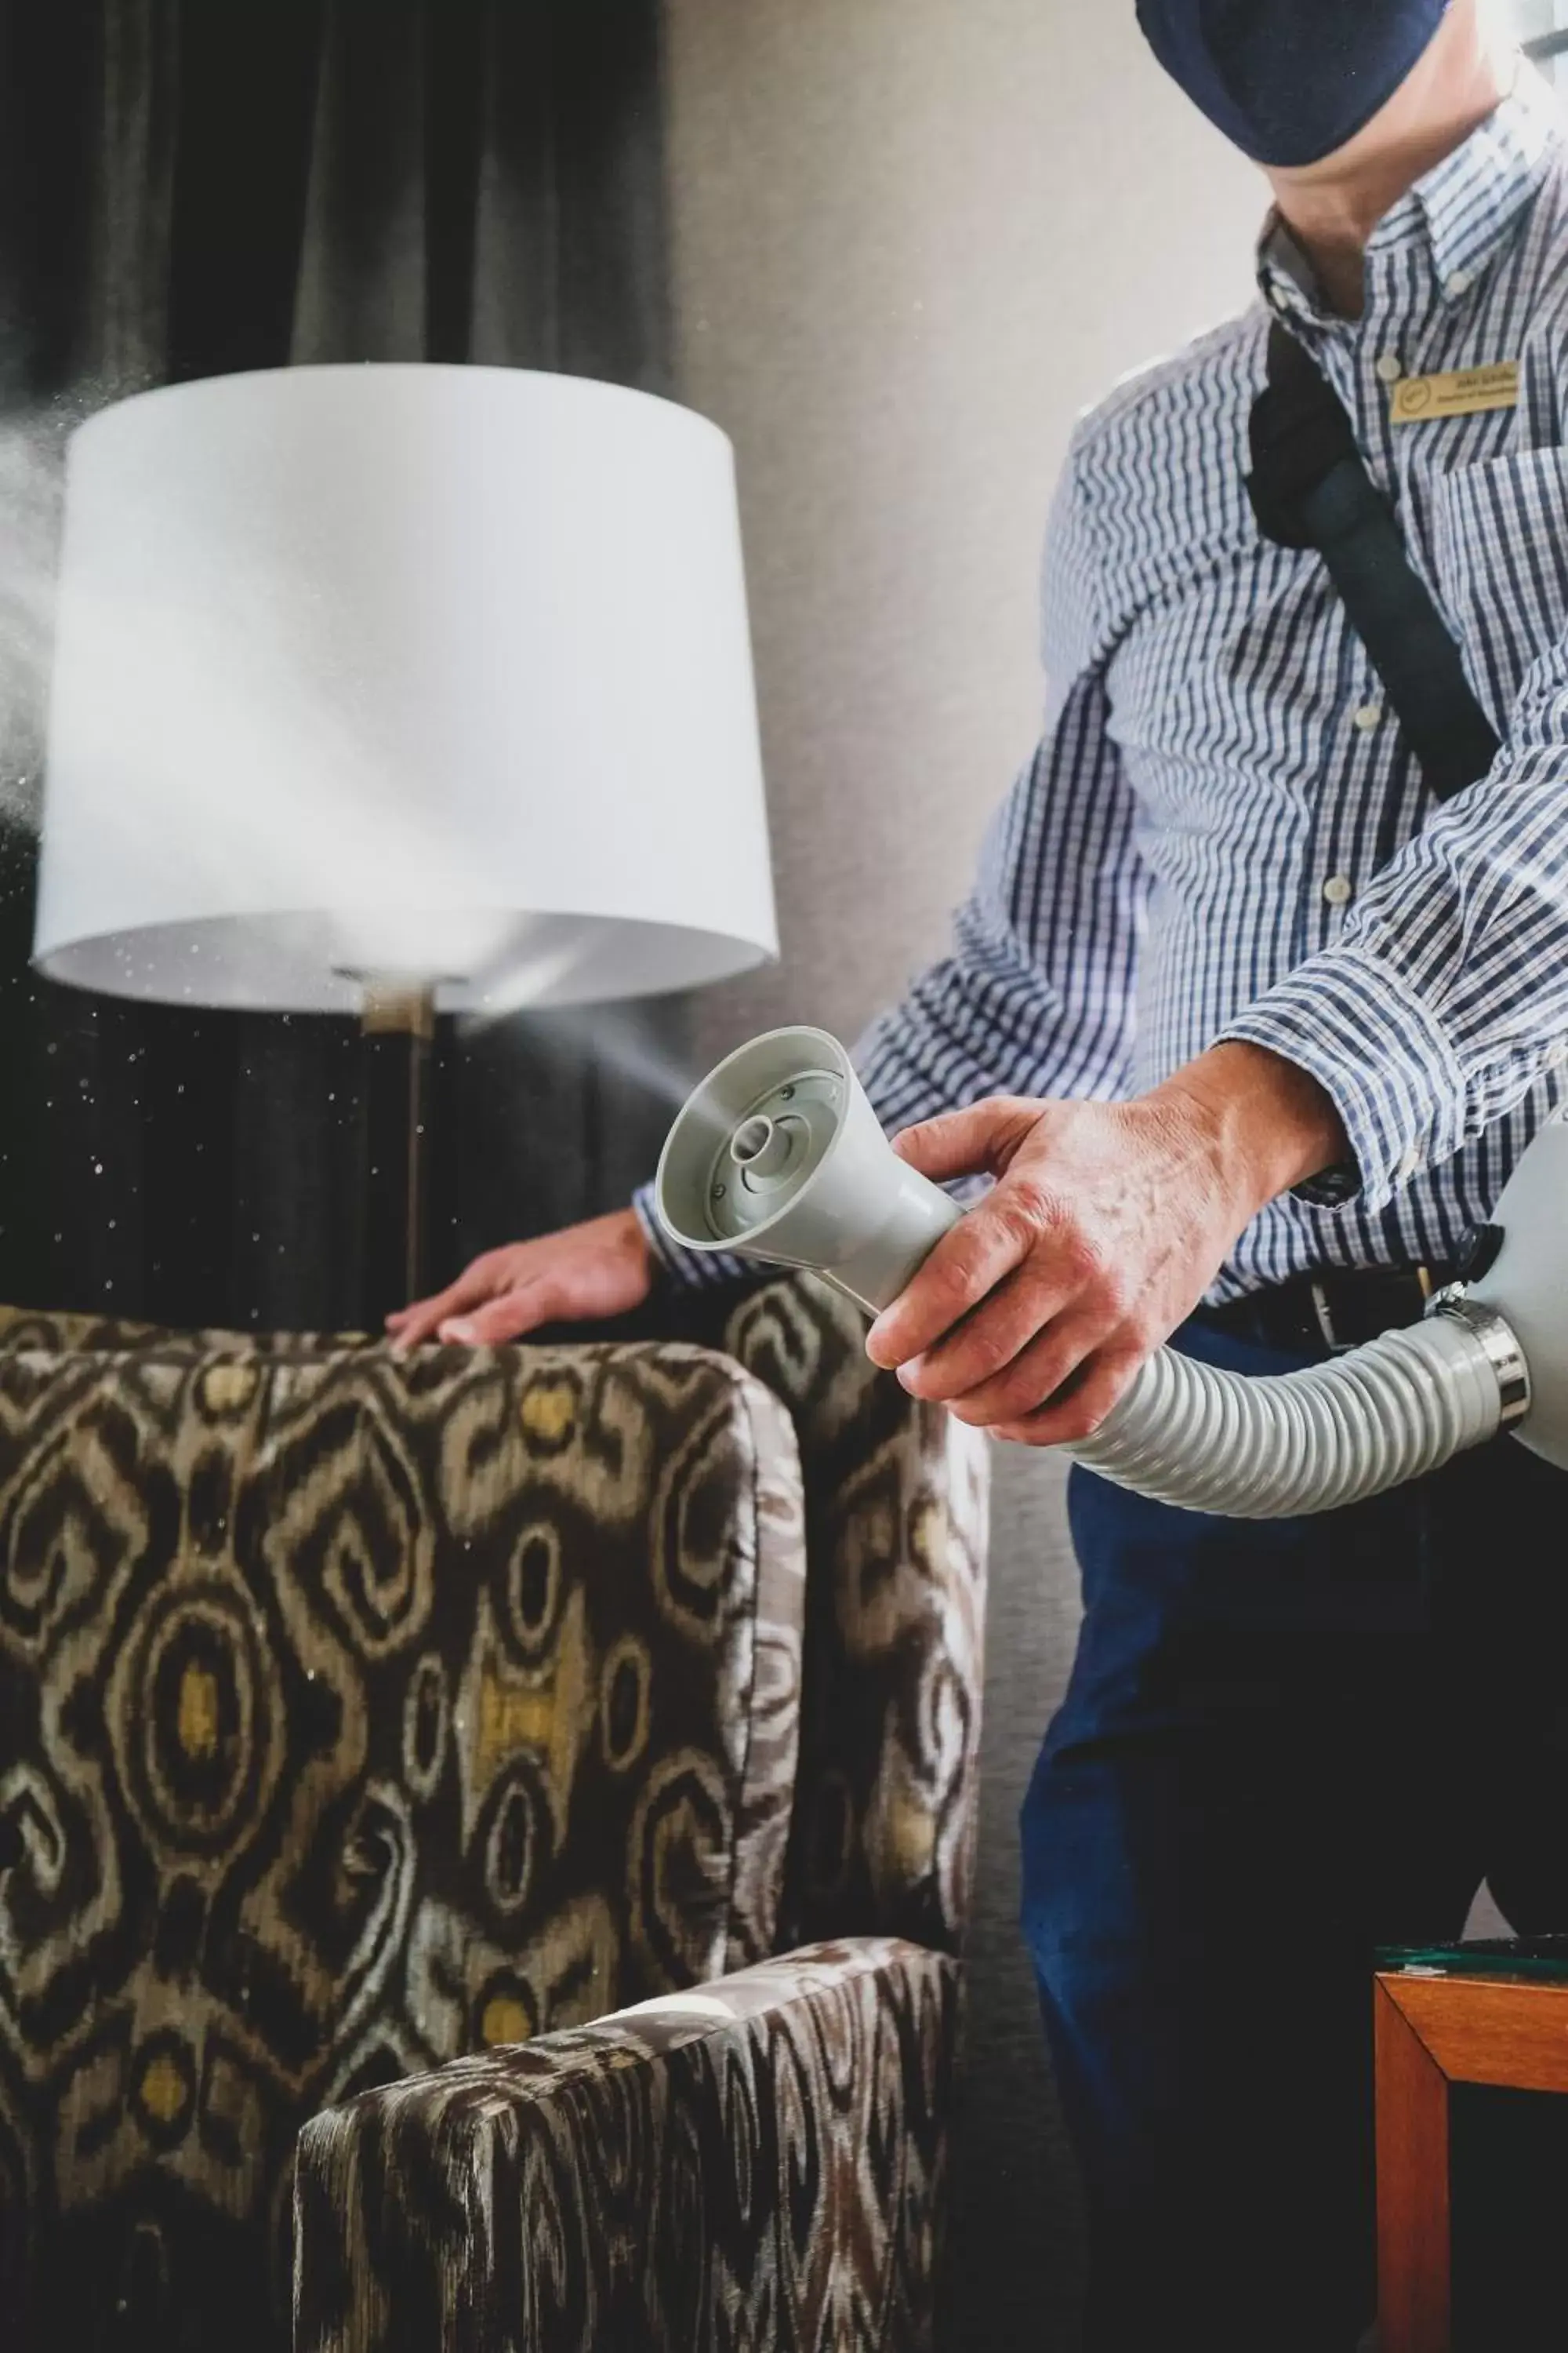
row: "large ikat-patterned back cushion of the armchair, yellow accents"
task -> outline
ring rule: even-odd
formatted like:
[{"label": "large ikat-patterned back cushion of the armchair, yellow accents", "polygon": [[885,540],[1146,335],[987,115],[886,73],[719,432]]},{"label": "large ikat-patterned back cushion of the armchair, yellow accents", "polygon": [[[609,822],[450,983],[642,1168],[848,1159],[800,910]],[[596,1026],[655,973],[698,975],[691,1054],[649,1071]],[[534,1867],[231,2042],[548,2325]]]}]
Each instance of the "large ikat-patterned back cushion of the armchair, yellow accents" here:
[{"label": "large ikat-patterned back cushion of the armchair, yellow accents", "polygon": [[802,1595],[726,1358],[9,1318],[9,2353],[284,2346],[306,2115],[771,1953]]}]

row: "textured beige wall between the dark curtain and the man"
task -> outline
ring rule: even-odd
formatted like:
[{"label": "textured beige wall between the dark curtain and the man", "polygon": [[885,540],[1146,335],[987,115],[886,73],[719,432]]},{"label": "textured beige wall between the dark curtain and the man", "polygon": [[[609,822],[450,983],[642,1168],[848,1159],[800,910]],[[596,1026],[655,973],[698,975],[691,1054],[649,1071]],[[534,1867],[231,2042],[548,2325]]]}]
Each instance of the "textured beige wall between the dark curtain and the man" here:
[{"label": "textured beige wall between the dark curtain and the man", "polygon": [[856,1031],[1032,741],[1072,416],[1234,308],[1258,181],[1133,0],[665,0],[682,391],[736,440],[783,967]]}]

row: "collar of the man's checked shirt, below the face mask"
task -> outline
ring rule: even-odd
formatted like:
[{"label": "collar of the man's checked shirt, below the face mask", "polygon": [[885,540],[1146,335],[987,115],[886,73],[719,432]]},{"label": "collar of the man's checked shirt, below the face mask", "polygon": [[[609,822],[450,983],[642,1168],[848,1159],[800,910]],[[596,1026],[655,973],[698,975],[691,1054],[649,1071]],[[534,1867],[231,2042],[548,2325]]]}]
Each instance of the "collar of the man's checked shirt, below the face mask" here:
[{"label": "collar of the man's checked shirt, below the face mask", "polygon": [[[1378,221],[1366,245],[1368,271],[1378,266],[1378,254],[1418,247],[1436,292],[1462,301],[1516,233],[1559,129],[1552,89],[1535,66],[1519,59],[1507,99]],[[1272,311],[1298,320],[1324,318],[1312,264],[1276,212],[1258,245],[1258,285]]]}]

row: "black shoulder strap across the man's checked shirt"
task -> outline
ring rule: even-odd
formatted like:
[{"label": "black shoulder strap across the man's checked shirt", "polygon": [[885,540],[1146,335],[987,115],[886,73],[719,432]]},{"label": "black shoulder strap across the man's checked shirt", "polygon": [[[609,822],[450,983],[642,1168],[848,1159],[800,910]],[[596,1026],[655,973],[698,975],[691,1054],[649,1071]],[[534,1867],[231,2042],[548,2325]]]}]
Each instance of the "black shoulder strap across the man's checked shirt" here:
[{"label": "black shoulder strap across the man's checked shirt", "polygon": [[1253,402],[1251,447],[1246,489],[1258,529],[1284,548],[1319,551],[1427,784],[1439,800],[1462,793],[1493,765],[1497,734],[1410,567],[1345,407],[1279,322],[1269,329],[1269,379]]}]

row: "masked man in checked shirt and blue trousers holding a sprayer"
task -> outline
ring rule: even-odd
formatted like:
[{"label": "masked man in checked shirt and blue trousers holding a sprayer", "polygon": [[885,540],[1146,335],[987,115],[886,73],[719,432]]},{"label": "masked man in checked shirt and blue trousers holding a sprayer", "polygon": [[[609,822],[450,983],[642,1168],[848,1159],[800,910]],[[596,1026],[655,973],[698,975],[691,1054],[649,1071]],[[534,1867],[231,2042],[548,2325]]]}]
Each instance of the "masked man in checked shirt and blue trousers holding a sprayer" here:
[{"label": "masked man in checked shirt and blue trousers holding a sprayer", "polygon": [[[1479,0],[1143,0],[1140,21],[1267,169],[1262,306],[1081,424],[1044,744],[952,955],[860,1056],[884,1120],[919,1120],[907,1160],[997,1179],[870,1353],[1027,1445],[1091,1431],[1178,1327],[1265,1372],[1413,1322],[1568,1092],[1552,104]],[[1253,520],[1272,320],[1349,412],[1502,736],[1441,807],[1321,560]],[[1512,405],[1502,379],[1505,405],[1394,424],[1396,384],[1505,360]],[[630,1212],[599,1219],[482,1259],[393,1332],[625,1311],[654,1249]],[[1505,1442],[1281,1527],[1084,1473],[1070,1501],[1086,1617],[1023,1842],[1091,2341],[1349,2353],[1375,1944],[1455,1934],[1483,1875],[1519,1927],[1568,1925],[1568,1579],[1533,1537],[1568,1489]]]}]

